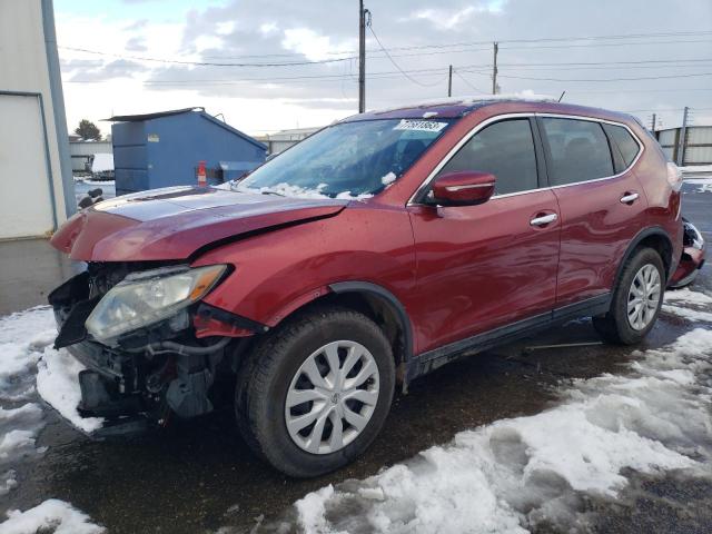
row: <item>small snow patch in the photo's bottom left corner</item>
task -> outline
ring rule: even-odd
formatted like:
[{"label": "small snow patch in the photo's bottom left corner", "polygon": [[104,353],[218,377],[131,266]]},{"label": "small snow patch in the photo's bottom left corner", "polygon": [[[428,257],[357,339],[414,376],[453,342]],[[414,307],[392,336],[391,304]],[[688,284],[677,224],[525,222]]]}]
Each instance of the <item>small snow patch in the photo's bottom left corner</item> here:
[{"label": "small snow patch in the photo's bottom left corner", "polygon": [[106,528],[91,523],[88,515],[70,504],[50,498],[33,508],[8,512],[8,521],[0,524],[0,534],[99,534]]}]

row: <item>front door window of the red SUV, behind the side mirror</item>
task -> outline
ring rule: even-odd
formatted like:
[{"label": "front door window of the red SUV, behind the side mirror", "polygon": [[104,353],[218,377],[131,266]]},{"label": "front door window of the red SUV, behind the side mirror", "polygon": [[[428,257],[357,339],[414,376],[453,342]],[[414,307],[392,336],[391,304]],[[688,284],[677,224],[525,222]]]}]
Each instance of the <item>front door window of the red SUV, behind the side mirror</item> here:
[{"label": "front door window of the red SUV, behind the side mirror", "polygon": [[536,155],[530,120],[503,120],[477,132],[438,176],[456,170],[493,174],[497,179],[495,195],[536,189]]}]

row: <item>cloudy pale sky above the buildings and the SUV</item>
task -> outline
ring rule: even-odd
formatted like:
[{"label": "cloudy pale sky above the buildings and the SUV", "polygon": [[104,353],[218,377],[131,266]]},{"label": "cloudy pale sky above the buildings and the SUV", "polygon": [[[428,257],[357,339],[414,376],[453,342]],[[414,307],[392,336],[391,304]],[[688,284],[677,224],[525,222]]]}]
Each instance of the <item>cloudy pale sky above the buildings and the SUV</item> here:
[{"label": "cloudy pale sky above the buildings and the SUV", "polygon": [[[501,92],[566,91],[645,122],[656,111],[659,127],[679,126],[690,106],[694,123],[712,123],[710,0],[366,7],[368,109],[446,95],[449,65],[454,95],[490,92],[496,40]],[[202,106],[259,134],[357,110],[357,0],[55,0],[55,10],[70,129]]]}]

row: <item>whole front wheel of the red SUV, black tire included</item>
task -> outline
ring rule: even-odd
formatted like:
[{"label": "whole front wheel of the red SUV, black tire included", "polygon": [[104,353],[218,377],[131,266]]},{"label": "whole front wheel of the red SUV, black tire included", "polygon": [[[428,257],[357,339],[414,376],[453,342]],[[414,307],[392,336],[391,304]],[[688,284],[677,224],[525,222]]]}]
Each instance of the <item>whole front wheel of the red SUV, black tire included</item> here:
[{"label": "whole front wheel of the red SUV, black tire included", "polygon": [[[329,382],[314,374],[312,364],[323,379],[339,383],[327,350],[332,358],[338,355],[343,389],[324,389]],[[368,378],[356,384],[364,376]],[[356,384],[355,388],[346,387],[349,384]],[[314,387],[303,389],[305,385]],[[256,344],[238,376],[235,411],[240,432],[257,455],[289,476],[313,477],[338,469],[364,453],[385,423],[394,389],[393,352],[380,328],[357,312],[324,306],[287,319]],[[287,407],[288,399],[304,398],[301,392],[318,398]],[[322,415],[313,424],[295,431],[318,411]],[[364,421],[362,428],[350,425],[362,426]]]}]

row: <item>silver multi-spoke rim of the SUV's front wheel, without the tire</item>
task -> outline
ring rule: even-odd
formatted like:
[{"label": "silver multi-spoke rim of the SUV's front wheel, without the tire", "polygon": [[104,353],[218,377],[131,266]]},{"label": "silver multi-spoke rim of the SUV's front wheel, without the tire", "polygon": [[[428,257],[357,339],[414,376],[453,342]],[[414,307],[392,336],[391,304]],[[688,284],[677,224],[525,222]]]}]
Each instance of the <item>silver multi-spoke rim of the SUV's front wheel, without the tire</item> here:
[{"label": "silver multi-spoke rim of the SUV's front wheel, without the tire", "polygon": [[313,454],[344,448],[368,425],[378,389],[378,366],[366,347],[352,340],[324,345],[306,358],[289,385],[289,436]]}]

